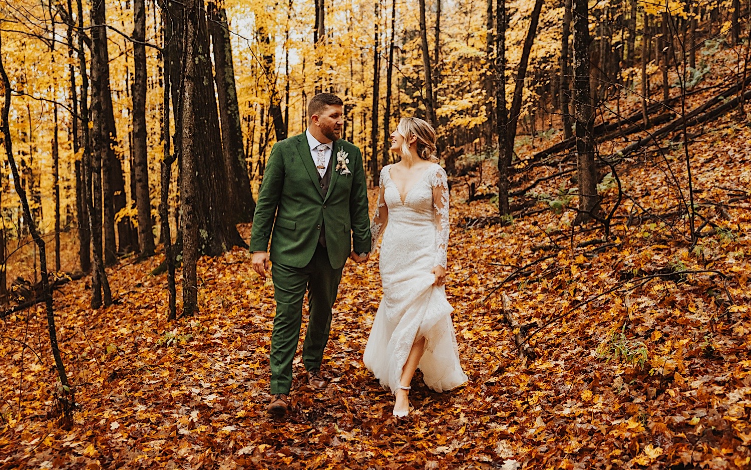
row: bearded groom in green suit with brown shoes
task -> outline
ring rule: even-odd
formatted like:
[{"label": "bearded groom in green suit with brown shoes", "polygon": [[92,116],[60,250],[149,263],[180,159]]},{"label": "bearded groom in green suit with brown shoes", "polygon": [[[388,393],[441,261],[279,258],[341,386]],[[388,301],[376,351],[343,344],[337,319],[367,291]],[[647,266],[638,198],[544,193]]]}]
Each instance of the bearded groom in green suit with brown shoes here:
[{"label": "bearded groom in green suit with brown shoes", "polygon": [[308,129],[274,145],[258,194],[250,250],[253,269],[261,278],[266,278],[269,261],[273,262],[276,316],[268,407],[273,414],[285,414],[290,408],[292,360],[306,291],[309,323],[303,363],[309,386],[321,390],[327,385],[321,377],[321,361],[342,268],[347,257],[363,262],[369,256],[363,158],[360,149],[339,139],[343,105],[330,93],[310,100]]}]

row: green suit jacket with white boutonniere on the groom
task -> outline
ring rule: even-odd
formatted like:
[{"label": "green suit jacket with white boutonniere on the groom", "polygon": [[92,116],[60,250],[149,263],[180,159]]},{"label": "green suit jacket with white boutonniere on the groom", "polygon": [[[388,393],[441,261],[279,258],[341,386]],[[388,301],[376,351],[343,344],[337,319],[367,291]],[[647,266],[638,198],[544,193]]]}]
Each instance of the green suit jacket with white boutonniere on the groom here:
[{"label": "green suit jacket with white boutonniere on the groom", "polygon": [[[351,174],[336,171],[336,154],[348,153]],[[318,171],[305,133],[274,144],[264,171],[253,216],[251,251],[266,251],[271,262],[303,268],[315,253],[325,224],[329,262],[342,268],[352,250],[370,251],[368,194],[360,149],[339,139],[333,143],[334,165],[327,195],[321,196]]]}]

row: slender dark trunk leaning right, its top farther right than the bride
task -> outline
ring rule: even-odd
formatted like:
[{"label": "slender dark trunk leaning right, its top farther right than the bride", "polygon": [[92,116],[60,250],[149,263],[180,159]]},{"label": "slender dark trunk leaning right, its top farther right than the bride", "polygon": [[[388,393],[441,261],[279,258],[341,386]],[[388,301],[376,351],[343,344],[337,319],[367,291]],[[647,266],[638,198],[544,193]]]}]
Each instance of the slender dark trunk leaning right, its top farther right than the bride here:
[{"label": "slender dark trunk leaning right, its top farther right than the bride", "polygon": [[[535,0],[535,6],[534,8],[532,8],[532,17],[530,18],[529,22],[529,29],[526,32],[526,38],[524,38],[521,59],[519,66],[517,67],[517,76],[514,83],[514,96],[511,100],[511,109],[509,110],[507,121],[505,121],[505,129],[503,129],[505,132],[499,135],[499,139],[503,141],[503,144],[499,145],[500,148],[498,155],[498,168],[500,177],[498,184],[498,203],[499,211],[502,215],[508,215],[511,213],[508,205],[508,173],[511,168],[511,161],[514,157],[514,141],[516,140],[517,123],[519,122],[519,114],[521,113],[521,101],[522,92],[524,89],[524,79],[526,78],[526,68],[529,63],[529,53],[532,50],[532,44],[535,41],[537,24],[540,20],[540,11],[542,9],[542,2],[543,0]],[[505,18],[505,20],[508,20],[508,18]]]}]

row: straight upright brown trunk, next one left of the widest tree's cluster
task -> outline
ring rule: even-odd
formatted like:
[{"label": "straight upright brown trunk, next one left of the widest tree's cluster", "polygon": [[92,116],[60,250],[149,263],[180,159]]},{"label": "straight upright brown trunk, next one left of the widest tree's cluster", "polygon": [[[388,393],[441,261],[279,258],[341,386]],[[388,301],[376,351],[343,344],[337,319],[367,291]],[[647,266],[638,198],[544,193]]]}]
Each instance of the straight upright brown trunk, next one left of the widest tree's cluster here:
[{"label": "straight upright brown trunk, next one left of the widest tree's cluster", "polygon": [[146,2],[133,2],[133,166],[135,200],[138,213],[138,244],[140,256],[154,254],[154,229],[151,223],[149,196],[149,159],[146,147]]}]

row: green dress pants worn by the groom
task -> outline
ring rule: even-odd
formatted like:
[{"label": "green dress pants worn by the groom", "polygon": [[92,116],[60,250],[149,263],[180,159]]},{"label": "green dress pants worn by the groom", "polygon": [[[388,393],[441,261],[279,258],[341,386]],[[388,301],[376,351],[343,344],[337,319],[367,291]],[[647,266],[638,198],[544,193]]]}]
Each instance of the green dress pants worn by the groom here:
[{"label": "green dress pants worn by the groom", "polygon": [[325,247],[318,244],[304,268],[273,263],[276,316],[271,333],[271,393],[289,393],[292,386],[292,361],[300,340],[303,299],[308,292],[309,322],[303,343],[306,370],[321,367],[331,327],[331,307],[336,301],[342,268],[334,269]]}]

